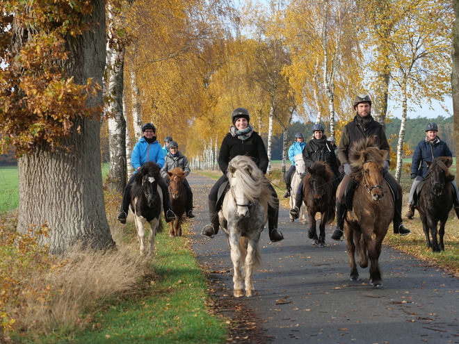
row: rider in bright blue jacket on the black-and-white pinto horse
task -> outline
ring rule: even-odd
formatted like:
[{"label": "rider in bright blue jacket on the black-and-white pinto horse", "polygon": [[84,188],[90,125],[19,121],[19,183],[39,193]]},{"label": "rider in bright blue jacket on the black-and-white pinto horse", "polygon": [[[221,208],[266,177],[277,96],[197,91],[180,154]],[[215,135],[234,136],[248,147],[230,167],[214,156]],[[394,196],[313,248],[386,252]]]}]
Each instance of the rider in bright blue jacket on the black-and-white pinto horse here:
[{"label": "rider in bright blue jacket on the black-and-white pinto horse", "polygon": [[[131,185],[134,183],[135,175],[140,170],[140,167],[147,161],[158,164],[160,168],[164,165],[163,149],[161,149],[161,145],[156,140],[156,128],[154,125],[151,123],[144,124],[142,126],[142,133],[143,137],[138,140],[131,154],[131,165],[134,167],[135,172],[127,182],[122,195],[121,213],[117,218],[122,224],[126,223],[129,204],[131,203]],[[172,211],[172,206],[170,205],[168,186],[163,178],[158,180],[158,185],[163,192],[164,217],[166,218],[166,222],[170,222],[175,219],[175,213]]]}]

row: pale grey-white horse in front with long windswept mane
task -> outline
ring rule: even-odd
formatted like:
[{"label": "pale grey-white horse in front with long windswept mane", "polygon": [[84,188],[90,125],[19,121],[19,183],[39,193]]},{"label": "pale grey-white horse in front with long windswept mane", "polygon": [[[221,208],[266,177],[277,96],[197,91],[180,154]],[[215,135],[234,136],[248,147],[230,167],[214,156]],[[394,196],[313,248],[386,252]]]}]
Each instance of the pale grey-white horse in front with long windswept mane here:
[{"label": "pale grey-white horse in front with long windswept mane", "polygon": [[234,296],[252,296],[255,290],[252,274],[261,263],[258,245],[261,231],[268,220],[268,206],[275,206],[275,198],[252,158],[236,156],[230,161],[227,177],[230,190],[218,213],[225,231],[234,267]]}]

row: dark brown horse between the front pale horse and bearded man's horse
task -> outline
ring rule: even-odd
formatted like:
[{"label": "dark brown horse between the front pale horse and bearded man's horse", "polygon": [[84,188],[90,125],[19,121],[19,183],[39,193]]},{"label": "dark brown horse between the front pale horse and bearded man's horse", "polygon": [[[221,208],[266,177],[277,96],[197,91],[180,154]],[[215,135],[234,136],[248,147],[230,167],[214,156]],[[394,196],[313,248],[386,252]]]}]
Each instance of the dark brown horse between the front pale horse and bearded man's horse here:
[{"label": "dark brown horse between the front pale horse and bearded man's horse", "polygon": [[[325,246],[325,224],[335,220],[335,190],[332,181],[335,174],[323,161],[316,161],[303,179],[304,201],[309,215],[309,232],[307,237],[312,239],[312,245]],[[316,231],[316,213],[321,213],[321,224],[319,225],[319,238]]]}]

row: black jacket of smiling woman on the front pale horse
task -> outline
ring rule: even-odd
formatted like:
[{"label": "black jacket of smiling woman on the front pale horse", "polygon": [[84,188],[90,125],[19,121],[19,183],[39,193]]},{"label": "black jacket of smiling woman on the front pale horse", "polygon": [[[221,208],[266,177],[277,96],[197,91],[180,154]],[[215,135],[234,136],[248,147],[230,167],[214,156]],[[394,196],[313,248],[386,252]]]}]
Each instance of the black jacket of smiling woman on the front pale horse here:
[{"label": "black jacket of smiling woman on the front pale horse", "polygon": [[227,133],[220,146],[220,155],[218,156],[218,165],[223,173],[227,172],[228,165],[234,156],[246,155],[254,158],[258,168],[266,173],[268,170],[268,154],[261,136],[256,131],[250,135],[247,140],[239,140],[239,138]]}]

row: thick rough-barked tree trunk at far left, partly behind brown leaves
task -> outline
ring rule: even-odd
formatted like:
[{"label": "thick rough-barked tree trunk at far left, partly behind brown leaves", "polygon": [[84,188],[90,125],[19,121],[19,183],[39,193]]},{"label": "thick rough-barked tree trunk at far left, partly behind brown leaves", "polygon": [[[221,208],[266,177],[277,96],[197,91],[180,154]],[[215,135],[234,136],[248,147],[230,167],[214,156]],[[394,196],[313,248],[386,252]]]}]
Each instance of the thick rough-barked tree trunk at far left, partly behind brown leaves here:
[{"label": "thick rough-barked tree trunk at far left, partly behind brown leaves", "polygon": [[[105,65],[104,1],[92,0],[95,9],[86,16],[97,22],[91,30],[77,37],[67,36],[69,58],[65,70],[77,83],[88,78],[102,85]],[[15,30],[13,24],[13,30]],[[24,44],[28,36],[15,36],[13,45]],[[90,104],[102,106],[102,92],[90,99]],[[36,145],[30,155],[19,158],[19,208],[17,231],[42,226],[51,229],[40,245],[49,244],[51,254],[64,252],[75,243],[97,249],[113,247],[106,219],[100,156],[100,122],[77,118],[70,138],[63,145],[70,151],[52,151],[48,144]]]}]

